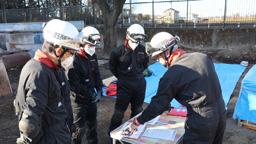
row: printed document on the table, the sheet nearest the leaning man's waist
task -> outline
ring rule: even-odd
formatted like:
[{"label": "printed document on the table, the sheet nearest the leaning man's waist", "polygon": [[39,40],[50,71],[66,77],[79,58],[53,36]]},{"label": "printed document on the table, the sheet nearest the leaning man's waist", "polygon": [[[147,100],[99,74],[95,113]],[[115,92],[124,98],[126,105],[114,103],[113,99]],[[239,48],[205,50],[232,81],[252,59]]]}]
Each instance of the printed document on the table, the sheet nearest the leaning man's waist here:
[{"label": "printed document on the table, the sheet nearest the leaning man's waist", "polygon": [[161,140],[174,141],[177,130],[146,127],[141,137],[156,138]]}]

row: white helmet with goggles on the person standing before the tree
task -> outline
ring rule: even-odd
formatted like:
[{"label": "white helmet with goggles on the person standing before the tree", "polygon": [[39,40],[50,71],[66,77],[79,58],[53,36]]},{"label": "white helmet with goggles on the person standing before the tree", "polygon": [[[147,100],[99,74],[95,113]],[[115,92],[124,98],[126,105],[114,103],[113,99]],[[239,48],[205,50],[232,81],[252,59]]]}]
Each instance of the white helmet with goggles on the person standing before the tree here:
[{"label": "white helmet with goggles on the person standing before the tree", "polygon": [[131,25],[127,29],[126,35],[132,42],[135,42],[137,44],[140,44],[147,38],[147,35],[145,35],[143,27],[139,24]]}]

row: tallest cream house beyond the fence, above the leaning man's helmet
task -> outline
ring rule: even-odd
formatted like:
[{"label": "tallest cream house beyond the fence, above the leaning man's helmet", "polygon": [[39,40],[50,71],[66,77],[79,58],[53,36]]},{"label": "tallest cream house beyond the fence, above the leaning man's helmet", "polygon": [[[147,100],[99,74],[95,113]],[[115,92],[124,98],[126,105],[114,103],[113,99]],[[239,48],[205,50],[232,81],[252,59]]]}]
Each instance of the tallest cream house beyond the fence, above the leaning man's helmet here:
[{"label": "tallest cream house beyond the fence, above the leaning man's helmet", "polygon": [[173,8],[168,8],[167,10],[163,11],[163,13],[164,16],[160,17],[161,21],[179,20],[180,11],[174,10]]}]

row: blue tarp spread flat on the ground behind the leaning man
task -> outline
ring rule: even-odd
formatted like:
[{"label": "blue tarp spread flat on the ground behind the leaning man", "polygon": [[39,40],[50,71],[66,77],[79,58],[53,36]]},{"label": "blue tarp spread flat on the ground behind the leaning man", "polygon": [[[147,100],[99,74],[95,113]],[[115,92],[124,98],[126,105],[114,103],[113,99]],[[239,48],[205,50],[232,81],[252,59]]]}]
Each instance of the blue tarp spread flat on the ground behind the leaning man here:
[{"label": "blue tarp spread flat on the ground behind the leaning man", "polygon": [[[246,69],[246,66],[241,66],[237,64],[215,63],[214,66],[219,77],[222,96],[227,106],[227,103],[229,102],[230,96],[234,91],[236,83]],[[154,75],[145,78],[147,80],[147,88],[144,100],[145,103],[150,103],[151,97],[157,93],[159,79],[164,75],[165,71],[167,71],[167,68],[164,68],[164,66],[161,65],[159,62],[150,65],[149,69],[154,73]],[[106,89],[103,90],[105,91]],[[105,93],[104,95],[106,96]],[[184,107],[181,107],[181,104],[178,103],[175,99],[173,99],[173,101],[171,102],[171,106],[184,109]]]}]

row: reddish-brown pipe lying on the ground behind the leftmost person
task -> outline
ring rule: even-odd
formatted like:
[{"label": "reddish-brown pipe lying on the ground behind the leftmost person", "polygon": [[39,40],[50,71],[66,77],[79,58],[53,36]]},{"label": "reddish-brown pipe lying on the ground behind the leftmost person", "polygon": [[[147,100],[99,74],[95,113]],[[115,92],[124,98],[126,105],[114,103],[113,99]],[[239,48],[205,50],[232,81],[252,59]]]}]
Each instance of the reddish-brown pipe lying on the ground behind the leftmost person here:
[{"label": "reddish-brown pipe lying on the ground behind the leftmost person", "polygon": [[17,66],[24,66],[30,59],[30,55],[27,52],[2,55],[0,59],[3,60],[6,70],[16,68]]}]

